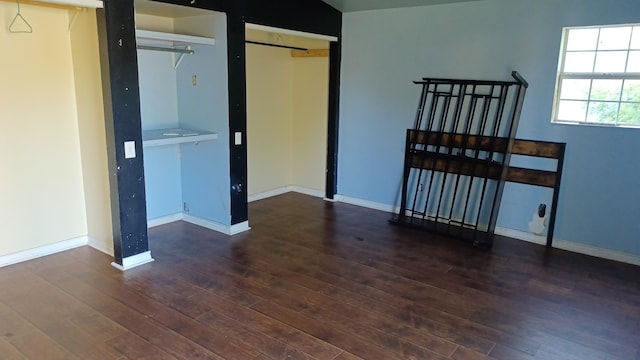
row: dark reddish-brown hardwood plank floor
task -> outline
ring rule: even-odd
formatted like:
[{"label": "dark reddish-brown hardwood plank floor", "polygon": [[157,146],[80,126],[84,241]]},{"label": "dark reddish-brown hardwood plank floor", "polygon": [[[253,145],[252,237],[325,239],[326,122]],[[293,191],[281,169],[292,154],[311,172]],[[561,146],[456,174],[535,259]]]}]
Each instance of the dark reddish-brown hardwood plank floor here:
[{"label": "dark reddish-brown hardwood plank floor", "polygon": [[0,269],[0,359],[640,359],[639,267],[295,193],[249,210],[150,229],[125,273],[89,247]]}]

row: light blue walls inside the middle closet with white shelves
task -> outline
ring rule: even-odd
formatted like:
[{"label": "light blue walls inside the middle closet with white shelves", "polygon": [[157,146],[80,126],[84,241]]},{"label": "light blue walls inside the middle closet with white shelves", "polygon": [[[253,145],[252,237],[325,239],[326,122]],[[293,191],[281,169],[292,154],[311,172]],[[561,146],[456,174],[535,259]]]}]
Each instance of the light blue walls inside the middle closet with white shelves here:
[{"label": "light blue walls inside the middle closet with white shelves", "polygon": [[218,139],[144,149],[147,217],[181,213],[186,202],[189,215],[231,225],[226,18],[182,18],[175,25],[195,22],[209,27],[216,45],[193,45],[195,54],[185,55],[177,70],[170,53],[138,51],[142,125],[210,131]]}]

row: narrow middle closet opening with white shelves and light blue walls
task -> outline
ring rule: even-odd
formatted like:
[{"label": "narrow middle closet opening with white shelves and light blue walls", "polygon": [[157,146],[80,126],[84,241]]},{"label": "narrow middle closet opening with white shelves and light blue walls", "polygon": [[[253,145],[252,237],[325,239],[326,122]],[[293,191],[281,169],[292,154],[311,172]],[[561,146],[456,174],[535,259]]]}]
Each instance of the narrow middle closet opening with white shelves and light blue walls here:
[{"label": "narrow middle closet opening with white shelves and light blue walls", "polygon": [[135,2],[147,224],[229,234],[226,14]]}]

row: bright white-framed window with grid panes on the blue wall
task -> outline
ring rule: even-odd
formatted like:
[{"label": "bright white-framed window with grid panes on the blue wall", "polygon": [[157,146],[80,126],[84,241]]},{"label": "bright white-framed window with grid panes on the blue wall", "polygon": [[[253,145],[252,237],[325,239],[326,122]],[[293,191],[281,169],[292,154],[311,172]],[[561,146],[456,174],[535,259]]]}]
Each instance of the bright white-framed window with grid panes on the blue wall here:
[{"label": "bright white-framed window with grid panes on the blue wall", "polygon": [[552,121],[640,127],[640,24],[563,36]]}]

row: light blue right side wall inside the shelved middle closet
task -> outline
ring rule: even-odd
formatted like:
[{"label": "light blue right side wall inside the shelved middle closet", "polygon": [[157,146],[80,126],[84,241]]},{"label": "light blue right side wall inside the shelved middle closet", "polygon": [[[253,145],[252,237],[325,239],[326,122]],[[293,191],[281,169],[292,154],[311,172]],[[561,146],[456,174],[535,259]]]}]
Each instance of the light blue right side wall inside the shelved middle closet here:
[{"label": "light blue right side wall inside the shelved middle closet", "polygon": [[[182,127],[212,131],[218,139],[182,145],[182,198],[189,203],[190,215],[231,225],[226,17],[218,14],[210,19],[200,20],[211,27],[216,45],[193,46],[195,55],[185,58],[178,68],[178,113]],[[197,19],[182,21],[188,26]]]}]

